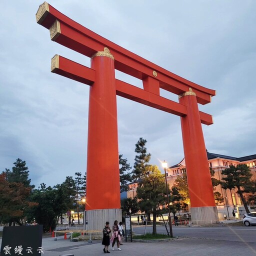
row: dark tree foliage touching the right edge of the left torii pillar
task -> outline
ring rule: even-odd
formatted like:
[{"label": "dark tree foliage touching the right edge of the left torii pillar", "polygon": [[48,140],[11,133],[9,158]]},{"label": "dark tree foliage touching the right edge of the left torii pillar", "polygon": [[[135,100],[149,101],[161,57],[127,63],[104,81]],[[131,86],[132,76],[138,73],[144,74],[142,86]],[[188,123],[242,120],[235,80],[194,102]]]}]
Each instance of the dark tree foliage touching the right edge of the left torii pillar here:
[{"label": "dark tree foliage touching the right edge of the left torii pillar", "polygon": [[127,158],[122,158],[122,154],[119,154],[119,173],[120,173],[120,192],[128,191],[128,182],[131,182],[131,174],[128,170],[131,168],[127,163]]}]

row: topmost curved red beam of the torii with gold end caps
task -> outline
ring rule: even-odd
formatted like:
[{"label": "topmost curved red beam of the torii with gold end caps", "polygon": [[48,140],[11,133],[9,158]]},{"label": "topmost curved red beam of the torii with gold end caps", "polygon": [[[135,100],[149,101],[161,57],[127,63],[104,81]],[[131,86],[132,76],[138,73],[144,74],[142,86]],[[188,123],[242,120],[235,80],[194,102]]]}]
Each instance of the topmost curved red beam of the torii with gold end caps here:
[{"label": "topmost curved red beam of the torii with gold end caps", "polygon": [[[52,40],[88,57],[96,51],[102,50],[104,46],[108,47],[115,58],[114,65],[117,70],[139,79],[153,77],[159,81],[159,87],[162,89],[181,94],[191,87],[196,93],[197,102],[201,104],[209,103],[211,96],[216,94],[215,90],[188,81],[94,33],[65,16],[47,2],[40,5],[36,13],[36,20],[42,26],[50,29]],[[53,25],[54,22],[57,22],[57,25]],[[56,34],[52,36],[56,27]],[[153,75],[153,71],[157,76]]]}]

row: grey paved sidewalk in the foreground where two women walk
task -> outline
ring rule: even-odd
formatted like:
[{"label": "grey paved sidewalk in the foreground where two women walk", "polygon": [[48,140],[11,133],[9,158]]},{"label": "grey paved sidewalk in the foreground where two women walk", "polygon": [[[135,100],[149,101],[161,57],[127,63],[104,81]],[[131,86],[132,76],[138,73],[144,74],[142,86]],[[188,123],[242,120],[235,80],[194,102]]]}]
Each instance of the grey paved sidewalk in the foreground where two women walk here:
[{"label": "grey paved sidewalk in the foreground where two women walk", "polygon": [[[75,256],[94,256],[103,255],[103,245],[101,240],[88,242],[70,242],[63,238],[54,241],[52,238],[43,239],[43,256],[59,256],[61,254],[73,254]],[[225,256],[236,255],[256,255],[256,243],[246,244],[237,241],[222,241],[215,239],[186,238],[178,237],[177,239],[164,242],[123,242],[120,246],[121,251],[110,250],[110,255],[122,256],[218,256],[223,253]],[[110,249],[110,247],[109,247]]]}]

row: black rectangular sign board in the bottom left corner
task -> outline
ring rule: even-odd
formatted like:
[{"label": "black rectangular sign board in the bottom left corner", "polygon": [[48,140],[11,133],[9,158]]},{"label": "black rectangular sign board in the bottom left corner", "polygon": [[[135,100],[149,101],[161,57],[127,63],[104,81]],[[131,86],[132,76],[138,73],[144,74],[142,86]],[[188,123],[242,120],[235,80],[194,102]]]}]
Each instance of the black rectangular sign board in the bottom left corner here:
[{"label": "black rectangular sign board in the bottom left corner", "polygon": [[3,227],[1,256],[38,256],[41,252],[42,225]]}]

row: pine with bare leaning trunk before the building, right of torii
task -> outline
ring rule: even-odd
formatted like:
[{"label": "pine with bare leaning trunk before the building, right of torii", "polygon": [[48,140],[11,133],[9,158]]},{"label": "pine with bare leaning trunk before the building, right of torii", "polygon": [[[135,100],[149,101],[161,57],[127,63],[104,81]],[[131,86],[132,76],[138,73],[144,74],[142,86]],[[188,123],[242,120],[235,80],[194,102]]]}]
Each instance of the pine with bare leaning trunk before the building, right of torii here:
[{"label": "pine with bare leaning trunk before the building, right of torii", "polygon": [[223,175],[221,186],[224,189],[237,188],[237,193],[240,195],[243,206],[247,213],[249,213],[249,209],[247,206],[247,202],[243,196],[242,187],[246,186],[247,183],[250,183],[251,180],[251,172],[246,164],[237,164],[236,166],[230,165],[229,168],[226,168],[221,171]]}]

